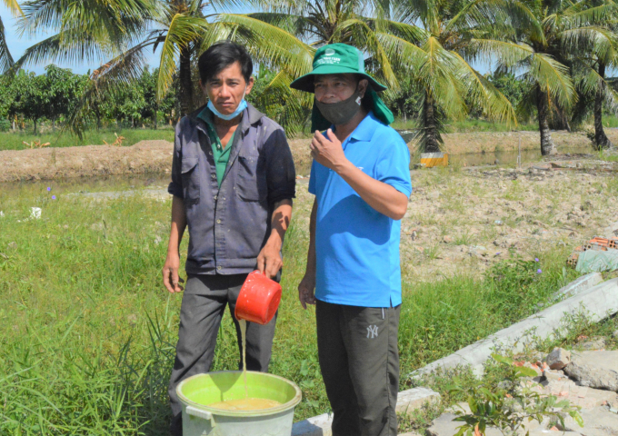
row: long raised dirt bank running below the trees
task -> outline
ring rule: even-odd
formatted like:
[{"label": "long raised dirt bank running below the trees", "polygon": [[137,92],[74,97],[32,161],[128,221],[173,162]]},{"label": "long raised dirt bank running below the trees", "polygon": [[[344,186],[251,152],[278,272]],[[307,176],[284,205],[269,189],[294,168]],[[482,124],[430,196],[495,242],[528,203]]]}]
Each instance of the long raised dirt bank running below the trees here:
[{"label": "long raised dirt bank running below the trees", "polygon": [[[444,150],[450,154],[493,153],[517,150],[520,133],[444,134]],[[608,135],[618,144],[618,131]],[[554,132],[560,149],[590,144],[583,134]],[[522,132],[522,149],[539,147],[539,135]],[[294,162],[301,175],[311,163],[309,139],[290,140]],[[414,144],[408,144],[414,153]],[[0,182],[54,179],[58,177],[88,177],[111,174],[163,173],[172,164],[173,145],[166,141],[142,141],[130,147],[87,145],[66,148],[44,148],[0,152]]]}]

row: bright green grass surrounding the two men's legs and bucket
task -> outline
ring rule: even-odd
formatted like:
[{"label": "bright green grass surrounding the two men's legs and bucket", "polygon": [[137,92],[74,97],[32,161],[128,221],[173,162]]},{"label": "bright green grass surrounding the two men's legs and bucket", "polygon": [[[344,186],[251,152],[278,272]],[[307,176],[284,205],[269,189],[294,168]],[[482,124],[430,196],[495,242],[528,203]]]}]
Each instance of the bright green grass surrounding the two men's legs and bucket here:
[{"label": "bright green grass surrounding the two men's legs and bucket", "polygon": [[[92,202],[46,185],[0,191],[0,434],[166,434],[182,298],[160,279],[170,203]],[[40,220],[28,219],[32,206],[43,209]],[[303,390],[296,420],[329,411],[314,310],[297,302],[306,245],[293,222],[270,367]],[[530,315],[573,279],[566,252],[532,254],[542,262],[501,263],[484,281],[414,282],[404,265],[402,389],[409,372]],[[226,313],[213,370],[237,362]]]}]

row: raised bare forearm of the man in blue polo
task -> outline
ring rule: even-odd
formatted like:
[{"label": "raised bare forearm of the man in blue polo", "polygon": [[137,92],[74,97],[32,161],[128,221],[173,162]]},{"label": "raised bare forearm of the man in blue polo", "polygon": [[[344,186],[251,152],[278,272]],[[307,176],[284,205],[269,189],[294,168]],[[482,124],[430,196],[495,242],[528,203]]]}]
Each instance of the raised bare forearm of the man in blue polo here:
[{"label": "raised bare forearm of the man in blue polo", "polygon": [[377,212],[394,220],[401,220],[408,208],[408,198],[390,184],[375,180],[347,161],[336,172],[361,198]]}]

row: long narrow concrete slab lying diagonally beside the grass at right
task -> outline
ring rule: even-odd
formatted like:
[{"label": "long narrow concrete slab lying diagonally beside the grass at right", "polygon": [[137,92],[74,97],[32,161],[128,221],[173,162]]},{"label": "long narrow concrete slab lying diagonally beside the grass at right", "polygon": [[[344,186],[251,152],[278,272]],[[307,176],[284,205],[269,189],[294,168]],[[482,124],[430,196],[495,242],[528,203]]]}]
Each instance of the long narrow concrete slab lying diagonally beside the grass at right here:
[{"label": "long narrow concrete slab lying diagonally beside the grass at right", "polygon": [[483,363],[493,352],[508,349],[523,352],[533,346],[538,338],[554,337],[556,332],[563,335],[563,325],[567,315],[583,313],[592,322],[598,322],[608,315],[618,312],[618,279],[609,280],[573,295],[562,302],[538,312],[522,322],[517,322],[506,329],[496,332],[483,341],[454,352],[438,361],[432,362],[410,374],[420,377],[437,369],[454,369],[457,366],[471,366],[473,372],[483,373]]}]

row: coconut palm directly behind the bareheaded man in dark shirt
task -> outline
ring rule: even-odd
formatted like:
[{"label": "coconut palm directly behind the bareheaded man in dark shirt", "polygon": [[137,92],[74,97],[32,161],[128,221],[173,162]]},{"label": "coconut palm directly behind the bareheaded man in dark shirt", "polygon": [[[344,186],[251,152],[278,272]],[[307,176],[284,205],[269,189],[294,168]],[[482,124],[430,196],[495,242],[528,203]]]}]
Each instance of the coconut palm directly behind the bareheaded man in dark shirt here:
[{"label": "coconut palm directly behind the bareheaded man in dark shirt", "polygon": [[[72,7],[66,7],[71,3]],[[25,2],[23,32],[40,26],[56,34],[30,47],[15,63],[25,64],[109,58],[92,74],[92,94],[106,85],[134,80],[144,70],[149,50],[161,46],[157,95],[164,96],[174,74],[179,79],[182,114],[194,109],[192,70],[197,55],[213,42],[210,27],[218,9],[238,2],[215,0],[29,0]],[[257,23],[257,20],[253,20]],[[250,25],[251,23],[249,23]],[[263,23],[259,23],[264,25]],[[241,26],[242,27],[242,26]],[[264,26],[262,26],[264,27]],[[257,61],[294,64],[290,43],[296,40],[274,26],[237,29],[257,54]]]}]

